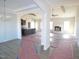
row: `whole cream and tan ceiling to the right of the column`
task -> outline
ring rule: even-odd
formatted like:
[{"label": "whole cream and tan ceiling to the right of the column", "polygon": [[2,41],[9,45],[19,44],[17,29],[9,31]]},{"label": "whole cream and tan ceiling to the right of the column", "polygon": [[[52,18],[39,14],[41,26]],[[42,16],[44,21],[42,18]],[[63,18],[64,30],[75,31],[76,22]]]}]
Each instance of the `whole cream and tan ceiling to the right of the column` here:
[{"label": "whole cream and tan ceiling to the right of the column", "polygon": [[[79,0],[44,0],[53,8],[53,14],[58,16],[53,17],[74,17],[76,9],[79,6]],[[61,8],[63,6],[63,8]],[[64,11],[64,10],[65,11]]]}]

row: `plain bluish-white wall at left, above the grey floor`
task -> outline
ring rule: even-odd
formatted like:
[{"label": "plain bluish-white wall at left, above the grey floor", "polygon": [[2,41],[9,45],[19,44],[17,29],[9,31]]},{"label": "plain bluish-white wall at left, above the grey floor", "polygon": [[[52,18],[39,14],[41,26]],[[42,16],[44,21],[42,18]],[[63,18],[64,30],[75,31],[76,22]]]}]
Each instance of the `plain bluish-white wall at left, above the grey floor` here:
[{"label": "plain bluish-white wall at left, above the grey floor", "polygon": [[10,16],[6,20],[0,18],[0,43],[20,38],[18,37],[18,19],[16,15]]}]

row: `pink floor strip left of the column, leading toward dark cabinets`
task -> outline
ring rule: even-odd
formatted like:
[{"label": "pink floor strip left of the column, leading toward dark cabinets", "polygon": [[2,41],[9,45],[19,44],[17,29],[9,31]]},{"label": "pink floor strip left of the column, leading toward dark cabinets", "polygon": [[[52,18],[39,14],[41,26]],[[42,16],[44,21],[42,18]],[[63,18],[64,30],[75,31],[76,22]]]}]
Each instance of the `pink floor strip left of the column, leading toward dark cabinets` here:
[{"label": "pink floor strip left of the column, leading toward dark cabinets", "polygon": [[23,37],[19,55],[20,59],[40,59],[34,49],[36,41],[34,36]]}]

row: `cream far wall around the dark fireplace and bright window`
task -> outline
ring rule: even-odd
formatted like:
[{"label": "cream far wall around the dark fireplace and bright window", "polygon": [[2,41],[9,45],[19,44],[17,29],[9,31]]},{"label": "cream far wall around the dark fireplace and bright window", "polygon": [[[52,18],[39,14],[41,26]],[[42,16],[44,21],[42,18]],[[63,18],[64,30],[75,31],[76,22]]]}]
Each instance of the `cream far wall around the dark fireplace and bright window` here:
[{"label": "cream far wall around the dark fireplace and bright window", "polygon": [[[69,21],[70,22],[69,33],[74,34],[75,17],[71,17],[71,18],[54,18],[52,20],[53,20],[53,27],[60,26],[62,33],[64,33],[64,21]],[[54,31],[54,28],[53,28],[53,31]]]}]

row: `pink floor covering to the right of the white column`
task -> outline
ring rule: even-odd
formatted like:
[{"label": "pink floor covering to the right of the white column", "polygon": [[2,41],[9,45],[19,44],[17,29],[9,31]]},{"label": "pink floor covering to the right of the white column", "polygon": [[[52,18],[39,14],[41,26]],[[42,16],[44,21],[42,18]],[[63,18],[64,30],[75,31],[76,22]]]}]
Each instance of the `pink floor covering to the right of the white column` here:
[{"label": "pink floor covering to the right of the white column", "polygon": [[49,56],[49,59],[74,59],[73,45],[73,39],[62,39]]}]

